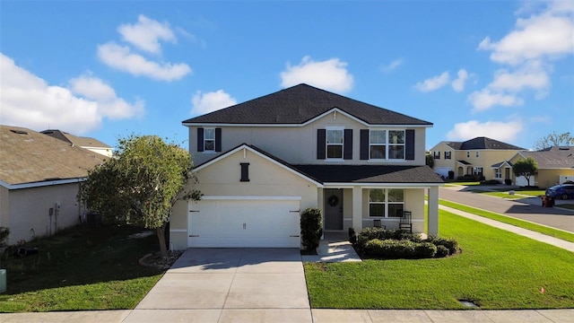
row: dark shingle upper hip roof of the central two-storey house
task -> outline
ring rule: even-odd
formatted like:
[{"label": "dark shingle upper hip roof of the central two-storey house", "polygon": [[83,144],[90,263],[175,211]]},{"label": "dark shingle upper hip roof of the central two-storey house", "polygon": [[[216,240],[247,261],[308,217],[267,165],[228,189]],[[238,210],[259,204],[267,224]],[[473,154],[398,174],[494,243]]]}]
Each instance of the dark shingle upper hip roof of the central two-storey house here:
[{"label": "dark shingle upper hip roof of the central two-storey house", "polygon": [[190,118],[185,124],[303,124],[330,109],[338,108],[370,125],[431,126],[432,123],[404,114],[299,84],[254,100]]}]

